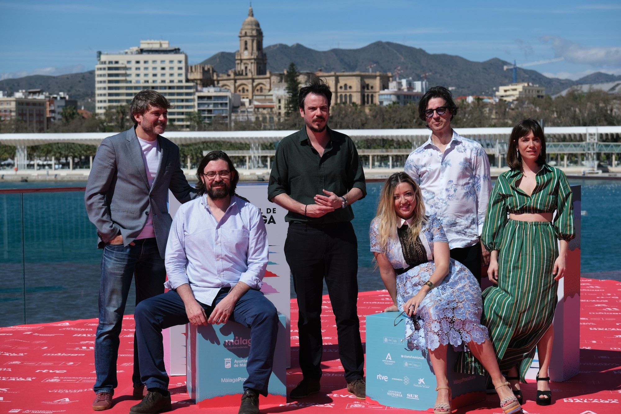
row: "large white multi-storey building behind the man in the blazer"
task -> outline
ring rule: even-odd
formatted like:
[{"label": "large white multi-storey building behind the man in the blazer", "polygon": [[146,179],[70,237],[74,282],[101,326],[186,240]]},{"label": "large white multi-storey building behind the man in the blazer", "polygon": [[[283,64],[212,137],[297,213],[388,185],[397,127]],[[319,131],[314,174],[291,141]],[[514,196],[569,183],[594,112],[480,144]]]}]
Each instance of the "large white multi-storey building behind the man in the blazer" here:
[{"label": "large white multi-storey building behind the man in the blazer", "polygon": [[153,89],[173,104],[168,122],[186,126],[195,111],[196,84],[187,78],[188,57],[168,40],[140,40],[139,47],[119,53],[97,52],[95,94],[97,116],[112,106],[129,104],[141,90]]}]

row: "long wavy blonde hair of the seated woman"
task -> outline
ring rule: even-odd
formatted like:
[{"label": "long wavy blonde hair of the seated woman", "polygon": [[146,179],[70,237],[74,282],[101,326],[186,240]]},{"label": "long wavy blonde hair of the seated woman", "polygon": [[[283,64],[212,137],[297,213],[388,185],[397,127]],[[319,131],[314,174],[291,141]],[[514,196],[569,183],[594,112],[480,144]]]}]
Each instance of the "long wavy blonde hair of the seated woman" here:
[{"label": "long wavy blonde hair of the seated woman", "polygon": [[401,218],[397,216],[397,212],[394,209],[394,189],[401,183],[408,183],[414,190],[414,201],[416,207],[414,208],[414,217],[412,223],[409,226],[409,240],[415,242],[419,236],[420,231],[427,219],[425,218],[425,203],[423,202],[423,196],[420,192],[420,187],[412,180],[412,177],[404,172],[398,172],[392,174],[386,180],[384,188],[382,188],[381,195],[379,196],[378,213],[376,218],[379,219],[379,246],[382,249],[386,249],[388,241],[391,238],[397,236],[397,224]]}]

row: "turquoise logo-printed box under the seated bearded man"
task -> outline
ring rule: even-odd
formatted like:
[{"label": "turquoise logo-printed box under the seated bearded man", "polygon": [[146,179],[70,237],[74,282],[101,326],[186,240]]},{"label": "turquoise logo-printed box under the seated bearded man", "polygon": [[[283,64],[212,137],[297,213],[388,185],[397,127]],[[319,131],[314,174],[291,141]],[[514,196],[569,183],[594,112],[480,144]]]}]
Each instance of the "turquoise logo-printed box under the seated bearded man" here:
[{"label": "turquoise logo-printed box under the seated bearded man", "polygon": [[[284,315],[278,315],[278,338],[268,392],[270,400],[286,401],[286,357],[289,339]],[[250,352],[250,329],[229,321],[221,325],[188,324],[186,382],[188,394],[199,406],[239,405]],[[222,398],[220,398],[222,397]],[[261,397],[263,398],[263,397]],[[278,399],[278,398],[277,398]],[[201,402],[203,402],[201,404]]]}]

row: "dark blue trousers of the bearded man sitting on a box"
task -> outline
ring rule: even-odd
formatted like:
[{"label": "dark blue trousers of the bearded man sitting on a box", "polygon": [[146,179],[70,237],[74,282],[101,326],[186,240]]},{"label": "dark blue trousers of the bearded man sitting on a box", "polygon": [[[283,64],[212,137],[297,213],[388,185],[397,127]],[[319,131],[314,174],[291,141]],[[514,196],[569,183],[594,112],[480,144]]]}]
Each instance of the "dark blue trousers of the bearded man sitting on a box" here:
[{"label": "dark blue trousers of the bearded man sitting on a box", "polygon": [[[207,318],[215,305],[229,293],[229,288],[220,289],[214,306],[201,303]],[[199,302],[200,303],[200,302]],[[136,334],[140,374],[147,389],[168,390],[168,375],[164,366],[164,345],[161,330],[188,323],[186,307],[175,290],[147,299],[136,306]],[[278,313],[259,290],[248,290],[235,303],[230,320],[250,328],[250,353],[248,354],[248,379],[243,389],[252,389],[268,395],[268,382],[274,362],[276,335],[278,334]]]}]

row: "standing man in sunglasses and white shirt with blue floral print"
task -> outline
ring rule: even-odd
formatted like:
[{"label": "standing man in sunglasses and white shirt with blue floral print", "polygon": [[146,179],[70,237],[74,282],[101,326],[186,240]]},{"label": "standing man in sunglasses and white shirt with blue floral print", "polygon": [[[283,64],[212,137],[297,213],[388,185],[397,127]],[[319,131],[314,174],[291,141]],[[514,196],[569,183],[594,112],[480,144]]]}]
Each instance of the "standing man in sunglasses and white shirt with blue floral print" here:
[{"label": "standing man in sunglasses and white shirt with blue floral print", "polygon": [[481,144],[453,131],[456,114],[453,96],[443,86],[423,95],[419,117],[431,135],[407,157],[405,171],[420,185],[427,214],[442,221],[451,258],[481,283],[481,262],[489,264],[479,241],[491,188],[489,159]]}]

